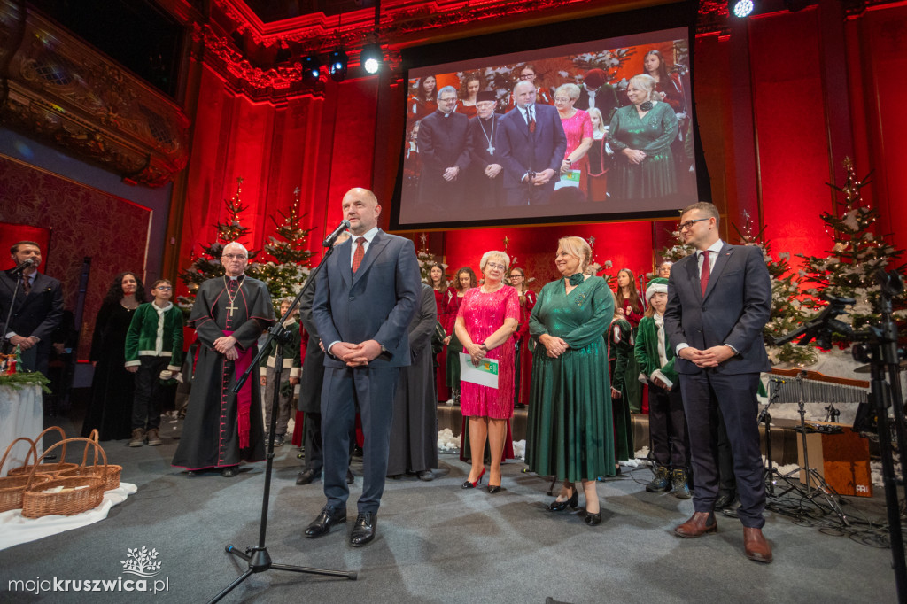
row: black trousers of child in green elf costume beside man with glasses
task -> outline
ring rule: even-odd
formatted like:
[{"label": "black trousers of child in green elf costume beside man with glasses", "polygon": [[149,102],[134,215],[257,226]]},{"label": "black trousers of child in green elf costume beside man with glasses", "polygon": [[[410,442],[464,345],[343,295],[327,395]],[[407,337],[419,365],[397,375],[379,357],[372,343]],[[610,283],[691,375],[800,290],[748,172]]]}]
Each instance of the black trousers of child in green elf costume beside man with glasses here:
[{"label": "black trousers of child in green elf costume beside man with glasses", "polygon": [[649,435],[658,465],[674,470],[688,468],[687,421],[678,385],[665,390],[649,382]]}]

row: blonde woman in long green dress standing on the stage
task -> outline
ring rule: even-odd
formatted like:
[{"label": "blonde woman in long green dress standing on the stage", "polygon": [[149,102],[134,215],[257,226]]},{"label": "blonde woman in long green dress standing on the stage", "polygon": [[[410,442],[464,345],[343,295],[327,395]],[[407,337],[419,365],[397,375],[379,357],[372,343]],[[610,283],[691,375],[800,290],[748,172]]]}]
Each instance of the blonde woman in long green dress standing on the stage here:
[{"label": "blonde woman in long green dress standing on the stage", "polygon": [[532,472],[563,480],[550,511],[576,508],[581,481],[590,526],[601,521],[596,479],[613,476],[614,433],[608,350],[603,334],[614,298],[600,277],[586,276],[592,258],[579,237],[558,241],[555,265],[563,278],[542,287],[529,331],[540,346],[532,359],[526,463]]}]

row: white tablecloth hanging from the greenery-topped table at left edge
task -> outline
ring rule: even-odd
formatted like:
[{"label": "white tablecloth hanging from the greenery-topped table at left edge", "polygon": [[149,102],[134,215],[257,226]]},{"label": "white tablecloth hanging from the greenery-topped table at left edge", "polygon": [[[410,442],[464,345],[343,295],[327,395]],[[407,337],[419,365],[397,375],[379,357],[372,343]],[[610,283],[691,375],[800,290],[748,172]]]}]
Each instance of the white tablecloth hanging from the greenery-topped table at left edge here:
[{"label": "white tablecloth hanging from the greenery-topped table at left edge", "polygon": [[[9,386],[0,386],[0,456],[6,451],[9,443],[19,436],[34,439],[42,430],[44,430],[44,405],[41,402],[41,387],[24,386],[16,390]],[[27,443],[16,443],[0,468],[0,476],[5,476],[9,468],[24,465],[28,450]],[[40,455],[41,443],[37,443],[37,450]]]}]

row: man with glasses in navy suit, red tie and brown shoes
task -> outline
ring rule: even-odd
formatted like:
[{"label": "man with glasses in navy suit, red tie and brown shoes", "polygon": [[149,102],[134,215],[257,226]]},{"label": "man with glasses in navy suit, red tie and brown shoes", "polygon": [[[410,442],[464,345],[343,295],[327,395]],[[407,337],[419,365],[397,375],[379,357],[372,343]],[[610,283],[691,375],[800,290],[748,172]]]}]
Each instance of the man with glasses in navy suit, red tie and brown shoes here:
[{"label": "man with glasses in navy suit, red tie and brown shoes", "polygon": [[759,372],[771,368],[762,339],[771,314],[771,278],[761,248],[720,239],[718,210],[711,203],[685,209],[680,233],[697,253],[671,268],[665,332],[677,352],[674,368],[680,375],[696,492],[695,513],[674,532],[692,538],[717,531],[720,408],[734,454],[744,551],[750,560],[771,562],[772,549],[762,535],[766,483],[756,420]]}]

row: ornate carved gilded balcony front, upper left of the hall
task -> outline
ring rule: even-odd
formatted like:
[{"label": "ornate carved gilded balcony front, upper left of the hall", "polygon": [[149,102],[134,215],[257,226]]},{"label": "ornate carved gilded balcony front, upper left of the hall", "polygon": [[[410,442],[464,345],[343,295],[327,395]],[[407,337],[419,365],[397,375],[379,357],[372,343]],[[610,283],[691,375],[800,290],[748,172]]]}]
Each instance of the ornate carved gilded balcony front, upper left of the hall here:
[{"label": "ornate carved gilded balcony front, upper left of the hall", "polygon": [[[32,10],[0,5],[0,124],[150,187],[189,160],[175,102]],[[7,44],[22,31],[19,44]]]}]

